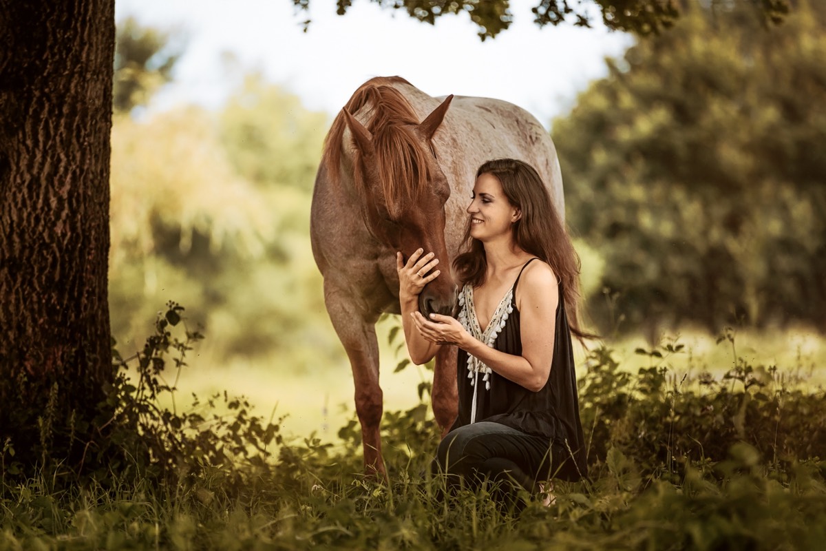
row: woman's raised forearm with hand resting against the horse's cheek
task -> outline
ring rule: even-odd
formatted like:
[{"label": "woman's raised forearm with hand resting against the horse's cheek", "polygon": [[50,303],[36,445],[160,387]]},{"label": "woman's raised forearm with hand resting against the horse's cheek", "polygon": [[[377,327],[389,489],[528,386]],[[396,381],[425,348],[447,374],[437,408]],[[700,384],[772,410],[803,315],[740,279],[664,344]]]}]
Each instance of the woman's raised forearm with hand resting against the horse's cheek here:
[{"label": "woman's raised forearm with hand resting against the horse's cheek", "polygon": [[[396,253],[396,271],[399,273],[399,303],[401,304],[401,326],[405,331],[405,341],[407,343],[407,353],[410,354],[413,363],[421,365],[428,363],[441,348],[439,344],[425,340],[415,328],[413,315],[419,313],[419,294],[427,283],[439,277],[439,270],[434,270],[439,259],[434,259],[433,253],[424,253],[424,249],[418,249],[403,262],[401,253]],[[430,272],[430,273],[428,273]],[[422,277],[422,275],[424,277]]]}]

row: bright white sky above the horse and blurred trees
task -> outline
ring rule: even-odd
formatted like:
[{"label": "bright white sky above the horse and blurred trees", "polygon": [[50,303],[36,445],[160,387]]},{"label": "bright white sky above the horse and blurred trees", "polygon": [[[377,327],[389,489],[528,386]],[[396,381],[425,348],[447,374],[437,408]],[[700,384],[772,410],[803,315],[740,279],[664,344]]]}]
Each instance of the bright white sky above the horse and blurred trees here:
[{"label": "bright white sky above the horse and blurred trees", "polygon": [[306,15],[292,0],[117,0],[116,17],[188,36],[175,83],[159,94],[157,108],[220,105],[238,83],[238,71],[227,70],[231,53],[311,110],[335,114],[368,78],[397,74],[433,96],[505,99],[548,127],[591,79],[605,75],[604,57],[621,55],[631,38],[604,27],[539,29],[530,12],[538,0],[510,3],[510,29],[485,42],[466,14],[430,26],[368,0],[354,2],[344,17],[332,0],[314,0],[306,33]]}]

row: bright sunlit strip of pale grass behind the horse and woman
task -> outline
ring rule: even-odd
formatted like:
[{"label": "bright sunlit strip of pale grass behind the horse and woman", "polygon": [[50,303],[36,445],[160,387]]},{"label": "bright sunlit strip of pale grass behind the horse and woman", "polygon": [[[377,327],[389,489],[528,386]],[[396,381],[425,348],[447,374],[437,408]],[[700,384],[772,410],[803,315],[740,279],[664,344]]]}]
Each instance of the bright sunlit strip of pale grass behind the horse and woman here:
[{"label": "bright sunlit strip of pale grass behind the horse and woman", "polygon": [[[388,333],[396,323],[391,317],[377,326],[382,357],[380,374],[384,392],[385,411],[406,411],[419,403],[417,387],[422,381],[432,380],[432,373],[415,365],[408,365],[393,373],[396,364],[406,358],[406,350],[396,354],[401,335],[394,344],[388,343]],[[619,367],[629,373],[652,366],[667,368],[675,381],[687,374],[689,380],[708,372],[722,378],[734,366],[732,343],[717,343],[716,337],[702,331],[686,330],[680,335],[662,340],[662,344],[683,344],[677,354],[663,354],[662,358],[639,354],[638,349],[652,350],[643,337],[627,337],[605,344],[614,349]],[[594,344],[591,344],[594,346]],[[777,367],[786,382],[802,382],[814,390],[826,385],[826,343],[823,337],[807,330],[786,332],[739,331],[734,335],[734,347],[739,358],[754,367]],[[208,349],[208,348],[207,348]],[[661,349],[662,350],[662,349]],[[584,350],[575,346],[577,376],[587,370]],[[304,439],[315,435],[322,442],[338,443],[338,430],[355,418],[354,384],[349,363],[318,365],[296,372],[285,372],[278,358],[242,359],[218,363],[208,354],[193,351],[189,366],[183,368],[178,379],[177,406],[180,410],[191,403],[195,392],[202,400],[226,391],[230,397],[244,396],[254,406],[254,415],[273,420],[283,418],[282,434]],[[174,382],[174,374],[166,374]],[[686,387],[683,387],[684,389]],[[426,397],[425,397],[426,400]]]}]

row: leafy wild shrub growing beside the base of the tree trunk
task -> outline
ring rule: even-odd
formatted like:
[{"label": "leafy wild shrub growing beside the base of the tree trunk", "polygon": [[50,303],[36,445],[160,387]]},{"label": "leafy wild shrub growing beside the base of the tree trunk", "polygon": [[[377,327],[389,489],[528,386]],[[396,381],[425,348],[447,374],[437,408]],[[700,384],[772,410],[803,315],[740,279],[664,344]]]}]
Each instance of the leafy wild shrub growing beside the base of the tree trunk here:
[{"label": "leafy wild shrub growing beside the base of the tree trunk", "polygon": [[[108,389],[107,408],[114,411],[102,420],[108,430],[108,470],[123,476],[134,470],[142,477],[182,482],[211,473],[238,479],[244,469],[265,468],[273,444],[281,444],[280,420],[273,423],[250,414],[249,401],[216,393],[206,401],[192,394],[187,411],[179,411],[176,385],[186,355],[203,339],[189,330],[183,306],[167,304],[154,323],[154,335],[144,348],[123,359],[113,350],[115,376]],[[183,329],[183,338],[173,329]],[[172,368],[174,382],[166,376]],[[166,406],[164,404],[169,404]],[[98,477],[107,473],[97,473]]]}]

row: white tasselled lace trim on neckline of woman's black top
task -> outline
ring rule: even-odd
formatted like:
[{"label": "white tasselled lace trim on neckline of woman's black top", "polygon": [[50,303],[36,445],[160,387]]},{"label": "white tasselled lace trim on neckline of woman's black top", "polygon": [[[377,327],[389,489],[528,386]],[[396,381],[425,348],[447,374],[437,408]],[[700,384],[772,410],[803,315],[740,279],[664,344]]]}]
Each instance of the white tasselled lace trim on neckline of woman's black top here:
[{"label": "white tasselled lace trim on neckline of woman's black top", "polygon": [[[491,321],[488,322],[487,328],[482,331],[482,327],[479,326],[479,320],[476,316],[476,305],[473,303],[473,287],[470,285],[465,285],[462,288],[462,292],[459,293],[458,321],[475,339],[481,340],[483,343],[493,348],[493,344],[496,343],[496,337],[499,336],[500,331],[505,328],[505,322],[507,321],[508,316],[510,316],[510,313],[514,310],[513,305],[511,304],[511,302],[513,302],[513,295],[514,287],[511,286],[510,289],[508,289],[508,292],[505,293],[505,296],[502,297],[502,300],[499,302],[499,306],[496,306],[496,310],[493,311],[493,316],[491,316]],[[479,387],[479,373],[482,373],[482,381],[485,382],[485,389],[491,390],[492,369],[487,367],[487,365],[485,365],[485,363],[476,356],[468,354],[468,378],[470,379],[470,384],[473,387],[473,399],[470,411],[471,423],[476,421],[476,399],[477,390]]]}]

